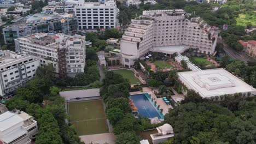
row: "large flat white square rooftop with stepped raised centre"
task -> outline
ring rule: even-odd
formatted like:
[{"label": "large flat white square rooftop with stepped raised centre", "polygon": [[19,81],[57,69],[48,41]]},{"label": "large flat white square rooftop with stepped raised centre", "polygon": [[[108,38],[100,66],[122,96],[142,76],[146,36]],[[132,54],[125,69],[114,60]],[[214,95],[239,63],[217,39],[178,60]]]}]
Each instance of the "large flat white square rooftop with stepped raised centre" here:
[{"label": "large flat white square rooftop with stepped raised centre", "polygon": [[179,80],[201,97],[213,97],[234,93],[256,93],[256,89],[232,75],[225,69],[185,71],[178,73]]}]

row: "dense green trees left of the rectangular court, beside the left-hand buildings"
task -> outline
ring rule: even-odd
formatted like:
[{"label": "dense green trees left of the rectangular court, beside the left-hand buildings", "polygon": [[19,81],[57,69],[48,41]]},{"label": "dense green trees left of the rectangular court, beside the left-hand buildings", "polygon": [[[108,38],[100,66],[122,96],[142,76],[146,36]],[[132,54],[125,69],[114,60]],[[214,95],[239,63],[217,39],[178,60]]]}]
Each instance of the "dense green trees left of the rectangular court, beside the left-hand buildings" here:
[{"label": "dense green trees left of the rectangular court, beside the left-hand buildings", "polygon": [[[36,118],[39,126],[36,144],[82,144],[74,129],[65,123],[65,100],[58,95],[60,89],[52,87],[51,76],[49,69],[39,68],[37,77],[25,87],[18,88],[15,97],[5,104],[9,110],[19,109]],[[50,100],[52,103],[42,107],[43,100]]]}]

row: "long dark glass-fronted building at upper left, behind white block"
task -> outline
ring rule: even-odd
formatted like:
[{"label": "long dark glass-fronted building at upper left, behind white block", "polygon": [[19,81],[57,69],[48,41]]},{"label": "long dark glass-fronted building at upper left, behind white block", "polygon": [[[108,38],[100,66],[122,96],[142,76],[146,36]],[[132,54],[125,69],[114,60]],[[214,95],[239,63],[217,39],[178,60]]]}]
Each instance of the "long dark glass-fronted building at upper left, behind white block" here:
[{"label": "long dark glass-fronted building at upper left, behind white block", "polygon": [[4,43],[13,43],[14,39],[33,33],[64,33],[72,35],[77,32],[77,18],[72,14],[38,13],[19,17],[13,25],[3,28]]}]

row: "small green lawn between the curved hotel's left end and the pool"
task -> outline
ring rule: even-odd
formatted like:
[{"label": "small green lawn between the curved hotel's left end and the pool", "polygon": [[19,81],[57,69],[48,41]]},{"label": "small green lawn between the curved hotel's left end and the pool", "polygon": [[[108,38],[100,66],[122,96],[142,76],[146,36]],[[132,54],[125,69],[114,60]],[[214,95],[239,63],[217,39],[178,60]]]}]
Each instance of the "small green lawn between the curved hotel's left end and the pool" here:
[{"label": "small green lawn between the curved hotel's left end and the pool", "polygon": [[128,79],[131,84],[141,83],[141,81],[139,81],[139,79],[137,77],[135,77],[132,70],[117,69],[117,70],[113,70],[113,71],[115,73],[122,75],[125,79]]}]

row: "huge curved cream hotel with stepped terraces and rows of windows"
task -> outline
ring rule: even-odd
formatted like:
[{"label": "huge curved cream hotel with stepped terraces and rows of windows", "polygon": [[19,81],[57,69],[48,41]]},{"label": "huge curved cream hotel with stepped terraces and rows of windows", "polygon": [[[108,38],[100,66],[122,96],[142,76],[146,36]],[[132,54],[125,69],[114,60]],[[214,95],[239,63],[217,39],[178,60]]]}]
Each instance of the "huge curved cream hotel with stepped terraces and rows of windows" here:
[{"label": "huge curved cream hotel with stepped terraces and rows of windows", "polygon": [[187,49],[213,54],[217,34],[200,17],[189,20],[188,16],[182,9],[143,11],[142,16],[131,21],[121,39],[122,63],[130,67],[149,51],[167,56]]}]

